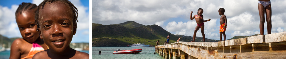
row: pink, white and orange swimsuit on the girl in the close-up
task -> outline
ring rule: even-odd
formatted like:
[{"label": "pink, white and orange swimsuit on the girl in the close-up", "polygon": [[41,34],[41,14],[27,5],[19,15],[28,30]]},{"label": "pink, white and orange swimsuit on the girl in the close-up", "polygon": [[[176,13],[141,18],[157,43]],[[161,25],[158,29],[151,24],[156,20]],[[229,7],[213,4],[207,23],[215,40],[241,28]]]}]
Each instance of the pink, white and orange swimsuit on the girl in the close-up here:
[{"label": "pink, white and orange swimsuit on the girl in the close-up", "polygon": [[26,59],[26,58],[32,58],[36,53],[40,52],[40,51],[43,51],[44,48],[37,44],[37,43],[33,43],[33,46],[30,50],[30,52],[28,53],[28,55],[24,58],[21,58],[21,59]]}]

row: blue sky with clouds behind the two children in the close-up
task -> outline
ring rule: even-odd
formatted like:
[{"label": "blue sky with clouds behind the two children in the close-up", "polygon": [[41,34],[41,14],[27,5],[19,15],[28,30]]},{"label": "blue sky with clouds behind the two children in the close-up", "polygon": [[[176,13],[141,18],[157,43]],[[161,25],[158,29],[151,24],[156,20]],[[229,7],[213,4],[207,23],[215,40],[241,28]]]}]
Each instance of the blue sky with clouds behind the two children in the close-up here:
[{"label": "blue sky with clouds behind the two children in the close-up", "polygon": [[[18,29],[15,12],[22,2],[39,5],[43,0],[1,0],[0,1],[0,34],[8,38],[22,37]],[[89,1],[71,0],[78,9],[77,33],[71,42],[89,42]]]}]

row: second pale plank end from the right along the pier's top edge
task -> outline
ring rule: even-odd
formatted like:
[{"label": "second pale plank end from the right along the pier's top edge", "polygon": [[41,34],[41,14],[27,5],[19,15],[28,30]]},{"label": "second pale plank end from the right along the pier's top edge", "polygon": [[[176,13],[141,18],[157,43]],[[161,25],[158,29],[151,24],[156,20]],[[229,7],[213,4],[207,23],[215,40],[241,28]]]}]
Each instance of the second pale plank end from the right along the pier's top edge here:
[{"label": "second pale plank end from the right along the pier's top edge", "polygon": [[263,42],[265,42],[265,35],[247,37],[247,44],[263,43]]}]

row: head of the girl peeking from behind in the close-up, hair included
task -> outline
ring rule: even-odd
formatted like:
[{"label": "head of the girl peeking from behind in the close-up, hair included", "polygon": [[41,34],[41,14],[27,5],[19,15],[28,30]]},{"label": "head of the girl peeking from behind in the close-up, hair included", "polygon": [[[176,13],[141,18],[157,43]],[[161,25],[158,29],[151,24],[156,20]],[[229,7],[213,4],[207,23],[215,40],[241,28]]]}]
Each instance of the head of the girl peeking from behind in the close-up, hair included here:
[{"label": "head of the girl peeking from behind in the close-up, hair included", "polygon": [[15,18],[20,30],[21,36],[29,43],[35,42],[39,38],[39,33],[36,30],[35,12],[36,4],[25,3],[19,5],[15,12]]}]

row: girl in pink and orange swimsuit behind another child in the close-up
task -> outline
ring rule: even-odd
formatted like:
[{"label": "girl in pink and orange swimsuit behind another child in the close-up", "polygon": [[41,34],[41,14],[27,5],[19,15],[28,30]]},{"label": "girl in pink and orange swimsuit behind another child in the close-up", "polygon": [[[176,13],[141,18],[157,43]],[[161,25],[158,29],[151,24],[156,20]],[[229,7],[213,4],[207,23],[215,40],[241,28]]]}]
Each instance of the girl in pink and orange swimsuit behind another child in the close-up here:
[{"label": "girl in pink and orange swimsuit behind another child in the close-up", "polygon": [[32,58],[36,53],[48,49],[36,30],[36,10],[37,5],[24,2],[16,10],[16,22],[23,38],[16,39],[12,43],[10,59]]}]

